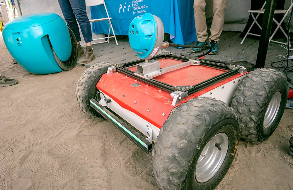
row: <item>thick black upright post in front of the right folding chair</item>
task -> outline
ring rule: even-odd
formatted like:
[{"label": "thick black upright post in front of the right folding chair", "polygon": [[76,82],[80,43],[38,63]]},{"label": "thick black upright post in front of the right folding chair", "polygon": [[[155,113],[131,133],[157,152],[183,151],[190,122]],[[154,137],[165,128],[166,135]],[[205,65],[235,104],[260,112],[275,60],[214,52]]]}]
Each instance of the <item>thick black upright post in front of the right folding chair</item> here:
[{"label": "thick black upright post in front of the right folding chair", "polygon": [[269,40],[271,36],[272,23],[276,8],[277,0],[267,0],[265,4],[265,14],[263,15],[263,25],[260,33],[258,45],[258,54],[256,58],[255,68],[265,67],[265,59],[267,57]]}]

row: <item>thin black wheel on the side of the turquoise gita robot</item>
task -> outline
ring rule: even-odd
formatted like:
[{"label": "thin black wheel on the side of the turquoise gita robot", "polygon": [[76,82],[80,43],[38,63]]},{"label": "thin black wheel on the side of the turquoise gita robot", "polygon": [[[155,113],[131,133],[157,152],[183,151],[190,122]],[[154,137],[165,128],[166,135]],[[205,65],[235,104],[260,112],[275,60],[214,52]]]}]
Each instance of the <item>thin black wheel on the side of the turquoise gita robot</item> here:
[{"label": "thin black wheel on the side of the turquoise gita robot", "polygon": [[77,42],[76,38],[74,36],[74,33],[72,30],[68,27],[70,39],[71,39],[71,55],[66,61],[61,61],[58,56],[56,55],[54,49],[53,49],[53,55],[55,58],[55,61],[59,65],[60,68],[63,70],[71,70],[75,67],[77,62],[77,56],[78,56],[78,49],[77,49]]}]

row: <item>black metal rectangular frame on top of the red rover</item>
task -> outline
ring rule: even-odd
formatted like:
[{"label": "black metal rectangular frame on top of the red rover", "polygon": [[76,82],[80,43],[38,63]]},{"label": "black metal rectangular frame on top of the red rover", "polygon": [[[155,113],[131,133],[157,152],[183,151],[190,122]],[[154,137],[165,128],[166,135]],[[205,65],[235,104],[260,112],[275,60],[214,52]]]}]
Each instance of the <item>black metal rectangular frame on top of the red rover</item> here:
[{"label": "black metal rectangular frame on top of the red rover", "polygon": [[[184,56],[176,56],[176,55],[159,55],[159,56],[154,56],[152,59],[162,59],[162,58],[172,58],[172,59],[177,59],[177,60],[180,60],[180,61],[189,61],[190,58],[188,57],[184,57]],[[220,74],[220,75],[217,75],[215,77],[212,77],[208,80],[205,80],[203,82],[200,82],[198,84],[195,84],[193,85],[193,87],[183,91],[183,93],[187,93],[187,95],[190,95],[190,94],[193,94],[197,91],[200,91],[201,89],[204,89],[214,83],[217,83],[221,80],[224,80],[228,77],[231,77],[235,74],[238,73],[238,69],[236,70],[231,70],[228,65],[224,65],[224,64],[221,64],[221,63],[213,63],[213,62],[210,62],[210,61],[205,61],[204,59],[194,59],[194,60],[198,60],[200,61],[200,64],[201,65],[205,65],[205,66],[209,66],[209,67],[213,67],[213,68],[218,68],[218,69],[222,69],[222,70],[227,70],[226,72]],[[174,92],[174,91],[177,91],[179,90],[178,88],[175,88],[173,85],[171,84],[166,84],[166,83],[163,83],[161,81],[158,81],[158,80],[155,80],[155,79],[146,79],[146,78],[143,78],[143,77],[139,77],[138,75],[135,75],[133,71],[131,70],[128,70],[127,67],[131,67],[131,66],[134,66],[134,65],[137,65],[138,63],[143,63],[144,60],[141,59],[141,60],[137,60],[137,61],[132,61],[132,62],[129,62],[129,63],[125,63],[122,67],[120,68],[117,68],[117,71],[118,72],[122,72],[126,75],[130,75],[131,77],[137,79],[137,80],[140,80],[142,82],[145,82],[147,84],[150,84],[154,87],[158,87],[164,91],[167,91],[167,92]]]}]

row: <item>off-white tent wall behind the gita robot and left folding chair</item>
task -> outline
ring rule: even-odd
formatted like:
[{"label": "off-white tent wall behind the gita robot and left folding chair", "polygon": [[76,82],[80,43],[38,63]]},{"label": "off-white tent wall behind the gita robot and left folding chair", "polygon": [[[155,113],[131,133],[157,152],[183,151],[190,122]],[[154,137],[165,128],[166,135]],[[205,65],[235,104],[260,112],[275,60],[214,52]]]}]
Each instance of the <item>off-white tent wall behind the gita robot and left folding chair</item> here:
[{"label": "off-white tent wall behind the gita robot and left folding chair", "polygon": [[[41,1],[40,0],[19,0],[19,3],[20,3],[20,7],[21,7],[21,11],[23,15],[27,15],[31,13],[50,12],[50,13],[56,13],[60,15],[62,18],[64,18],[57,0],[43,0],[43,1],[42,0]],[[86,12],[88,14],[88,18],[91,18],[90,7],[86,7]],[[80,29],[79,29],[79,32],[81,34]],[[105,34],[92,33],[92,35],[93,35],[93,39],[105,37]],[[80,44],[82,46],[85,46],[86,44],[84,42],[84,38],[82,34],[80,36],[81,36]]]}]

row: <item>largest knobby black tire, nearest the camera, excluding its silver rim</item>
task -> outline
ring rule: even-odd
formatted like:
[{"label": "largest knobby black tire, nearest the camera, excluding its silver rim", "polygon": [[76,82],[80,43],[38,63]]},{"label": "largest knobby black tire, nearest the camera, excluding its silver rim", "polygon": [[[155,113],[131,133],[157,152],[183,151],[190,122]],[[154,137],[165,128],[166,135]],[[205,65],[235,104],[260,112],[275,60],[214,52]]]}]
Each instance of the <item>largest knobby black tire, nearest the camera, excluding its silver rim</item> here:
[{"label": "largest knobby black tire, nearest the camera, excluding its silver rim", "polygon": [[[195,178],[195,168],[207,142],[228,136],[229,146],[217,173],[207,182]],[[214,189],[228,171],[239,140],[237,115],[222,101],[197,97],[174,108],[160,130],[152,152],[153,173],[163,190]]]}]

